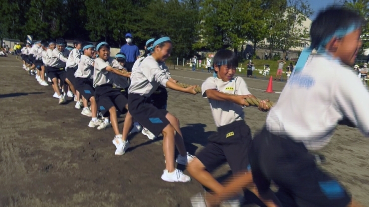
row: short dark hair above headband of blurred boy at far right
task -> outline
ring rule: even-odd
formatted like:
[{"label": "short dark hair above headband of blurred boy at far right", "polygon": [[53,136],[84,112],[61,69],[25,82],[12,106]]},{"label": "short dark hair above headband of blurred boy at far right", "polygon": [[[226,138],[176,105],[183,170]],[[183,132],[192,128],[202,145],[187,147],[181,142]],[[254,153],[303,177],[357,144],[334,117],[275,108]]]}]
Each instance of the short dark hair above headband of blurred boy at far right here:
[{"label": "short dark hair above headband of blurred boy at far right", "polygon": [[318,49],[320,43],[337,29],[348,28],[353,23],[363,25],[365,19],[346,6],[329,6],[321,10],[310,28],[311,48]]}]

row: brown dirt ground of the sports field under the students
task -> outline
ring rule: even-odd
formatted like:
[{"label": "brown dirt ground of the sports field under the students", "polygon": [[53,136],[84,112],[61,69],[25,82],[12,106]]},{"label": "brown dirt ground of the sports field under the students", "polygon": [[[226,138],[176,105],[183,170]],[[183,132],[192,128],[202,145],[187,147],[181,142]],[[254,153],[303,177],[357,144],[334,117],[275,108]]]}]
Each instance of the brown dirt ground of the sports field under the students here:
[{"label": "brown dirt ground of the sports field under the students", "polygon": [[[112,128],[89,128],[89,117],[74,102],[58,105],[52,88],[37,84],[14,57],[0,57],[0,71],[0,207],[189,207],[189,198],[201,191],[196,181],[161,180],[161,138],[132,135],[130,150],[115,156]],[[171,73],[180,82],[197,85],[212,75]],[[277,101],[279,94],[263,92],[267,80],[245,80],[256,97]],[[274,91],[283,87],[273,82]],[[181,121],[187,150],[198,153],[216,129],[207,100],[169,90],[168,110]],[[261,129],[266,113],[248,107],[245,114],[253,133]],[[339,126],[321,153],[327,158],[322,167],[368,207],[368,139],[358,129]],[[227,171],[225,166],[217,174]]]}]

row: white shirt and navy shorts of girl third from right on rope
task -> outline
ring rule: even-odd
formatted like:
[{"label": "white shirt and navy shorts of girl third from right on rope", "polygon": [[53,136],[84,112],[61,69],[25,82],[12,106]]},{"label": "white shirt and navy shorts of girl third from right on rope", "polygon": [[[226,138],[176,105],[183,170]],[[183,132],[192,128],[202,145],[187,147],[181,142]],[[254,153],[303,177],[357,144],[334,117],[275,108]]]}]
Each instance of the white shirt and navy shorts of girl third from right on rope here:
[{"label": "white shirt and navy shorts of girl third from right on rope", "polygon": [[128,89],[128,110],[134,119],[145,126],[155,136],[162,133],[170,123],[165,109],[158,109],[151,103],[150,96],[160,85],[166,87],[167,74],[159,63],[148,56],[131,74],[131,86]]}]

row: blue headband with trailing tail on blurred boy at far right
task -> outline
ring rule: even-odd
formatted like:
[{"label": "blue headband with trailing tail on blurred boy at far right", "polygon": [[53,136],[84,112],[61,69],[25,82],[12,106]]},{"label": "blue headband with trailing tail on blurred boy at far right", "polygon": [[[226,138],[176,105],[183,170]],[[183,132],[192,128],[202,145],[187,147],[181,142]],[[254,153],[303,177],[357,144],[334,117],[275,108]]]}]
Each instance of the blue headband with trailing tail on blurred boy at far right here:
[{"label": "blue headband with trailing tail on blurred boy at far right", "polygon": [[293,70],[291,77],[293,74],[295,74],[295,72],[299,73],[305,66],[306,61],[308,61],[308,58],[310,56],[310,54],[313,52],[313,49],[317,49],[317,52],[319,54],[324,54],[326,53],[325,51],[325,46],[329,43],[329,41],[332,40],[332,38],[336,37],[336,38],[343,38],[344,36],[354,32],[355,30],[357,30],[358,28],[360,28],[362,25],[358,24],[358,23],[354,23],[351,26],[349,26],[348,28],[339,28],[337,29],[333,34],[331,34],[330,36],[326,37],[325,39],[323,39],[317,48],[305,48],[302,50],[299,59],[296,63],[295,69]]}]

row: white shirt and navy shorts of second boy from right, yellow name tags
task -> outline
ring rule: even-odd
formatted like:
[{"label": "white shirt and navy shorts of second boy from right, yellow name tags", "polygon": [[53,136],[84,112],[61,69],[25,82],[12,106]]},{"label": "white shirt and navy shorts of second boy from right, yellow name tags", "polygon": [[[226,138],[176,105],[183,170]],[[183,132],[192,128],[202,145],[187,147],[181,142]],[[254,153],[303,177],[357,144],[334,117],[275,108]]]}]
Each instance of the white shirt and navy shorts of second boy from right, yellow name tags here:
[{"label": "white shirt and navy shorts of second boy from right, yellow name tags", "polygon": [[[251,94],[245,81],[235,77],[224,82],[221,79],[209,77],[201,86],[202,97],[206,90],[234,95]],[[208,144],[197,155],[197,158],[209,172],[228,162],[232,173],[247,170],[248,147],[251,143],[251,130],[244,121],[243,107],[232,102],[208,99],[213,114],[217,132],[209,136]]]}]

